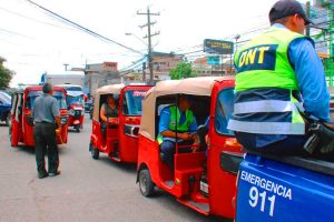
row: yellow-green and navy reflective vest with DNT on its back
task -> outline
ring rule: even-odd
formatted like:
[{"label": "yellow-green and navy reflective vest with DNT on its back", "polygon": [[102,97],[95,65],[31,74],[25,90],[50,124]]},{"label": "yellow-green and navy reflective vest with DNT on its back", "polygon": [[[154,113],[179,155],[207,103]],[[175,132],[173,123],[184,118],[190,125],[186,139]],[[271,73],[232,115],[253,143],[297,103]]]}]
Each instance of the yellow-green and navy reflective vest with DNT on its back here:
[{"label": "yellow-green and navy reflective vest with DNT on its back", "polygon": [[[295,71],[288,61],[288,46],[306,38],[272,27],[235,57],[236,99],[228,129],[258,134],[305,134],[305,123],[295,99]],[[311,40],[312,41],[312,40]]]}]

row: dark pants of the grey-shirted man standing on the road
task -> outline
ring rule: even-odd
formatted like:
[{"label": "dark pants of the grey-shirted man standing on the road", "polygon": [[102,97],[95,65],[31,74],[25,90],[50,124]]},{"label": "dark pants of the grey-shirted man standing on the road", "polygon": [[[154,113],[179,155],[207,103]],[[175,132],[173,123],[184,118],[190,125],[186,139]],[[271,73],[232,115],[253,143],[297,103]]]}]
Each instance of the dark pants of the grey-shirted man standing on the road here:
[{"label": "dark pants of the grey-shirted man standing on the road", "polygon": [[48,151],[48,171],[55,173],[59,167],[59,155],[56,137],[56,124],[36,123],[33,127],[35,153],[37,171],[46,172],[45,155]]}]

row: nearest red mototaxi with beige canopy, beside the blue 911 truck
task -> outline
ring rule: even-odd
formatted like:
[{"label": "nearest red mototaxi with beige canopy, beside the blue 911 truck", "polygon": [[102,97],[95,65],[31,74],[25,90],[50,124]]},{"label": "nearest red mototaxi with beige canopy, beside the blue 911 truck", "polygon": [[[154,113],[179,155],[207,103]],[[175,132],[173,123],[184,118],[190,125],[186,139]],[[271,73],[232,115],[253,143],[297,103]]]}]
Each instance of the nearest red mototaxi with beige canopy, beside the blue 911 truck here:
[{"label": "nearest red mototaxi with beige canopy, beside the blue 911 truck", "polygon": [[[137,163],[143,195],[154,194],[154,186],[158,186],[202,214],[234,219],[236,174],[243,159],[240,144],[226,129],[233,112],[234,85],[232,77],[190,78],[158,82],[148,91],[143,101]],[[178,153],[183,148],[176,145],[175,172],[171,172],[161,161],[156,138],[161,108],[177,104],[181,93],[191,98],[198,124],[209,115],[207,154]],[[205,145],[203,140],[200,144]]]}]

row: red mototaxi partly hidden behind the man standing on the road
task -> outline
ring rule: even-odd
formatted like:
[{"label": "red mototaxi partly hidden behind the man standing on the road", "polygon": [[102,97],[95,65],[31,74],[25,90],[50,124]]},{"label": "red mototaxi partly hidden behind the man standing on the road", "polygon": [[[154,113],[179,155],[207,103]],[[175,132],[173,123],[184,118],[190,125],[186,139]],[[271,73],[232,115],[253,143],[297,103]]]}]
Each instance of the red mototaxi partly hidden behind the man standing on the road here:
[{"label": "red mototaxi partly hidden behind the man standing on the road", "polygon": [[[26,147],[35,147],[33,140],[33,119],[31,109],[37,97],[42,94],[42,87],[28,87],[12,93],[9,135],[11,147],[18,147],[22,143]],[[53,97],[57,99],[60,108],[61,134],[57,137],[58,144],[67,143],[67,107],[66,90],[60,87],[53,87]]]}]

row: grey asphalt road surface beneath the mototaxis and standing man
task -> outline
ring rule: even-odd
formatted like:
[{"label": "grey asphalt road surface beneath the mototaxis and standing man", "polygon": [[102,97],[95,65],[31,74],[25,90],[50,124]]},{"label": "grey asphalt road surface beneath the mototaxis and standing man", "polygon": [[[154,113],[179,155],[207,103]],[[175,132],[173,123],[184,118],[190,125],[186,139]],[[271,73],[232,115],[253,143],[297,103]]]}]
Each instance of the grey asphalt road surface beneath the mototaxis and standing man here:
[{"label": "grey asphalt road surface beneath the mototaxis and standing man", "polygon": [[69,132],[59,147],[61,174],[38,179],[31,148],[11,148],[8,127],[0,125],[0,221],[222,221],[204,216],[158,191],[144,198],[136,165],[119,164],[88,152],[88,115],[80,133]]}]

